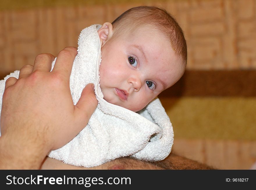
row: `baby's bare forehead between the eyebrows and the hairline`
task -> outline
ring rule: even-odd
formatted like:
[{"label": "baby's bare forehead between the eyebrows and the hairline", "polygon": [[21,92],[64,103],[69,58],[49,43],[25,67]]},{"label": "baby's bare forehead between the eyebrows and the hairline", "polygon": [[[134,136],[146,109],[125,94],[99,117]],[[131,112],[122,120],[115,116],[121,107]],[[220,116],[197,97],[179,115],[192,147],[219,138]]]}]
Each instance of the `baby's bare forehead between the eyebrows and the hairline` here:
[{"label": "baby's bare forehead between the eyebrows and the hairline", "polygon": [[149,73],[157,76],[161,81],[165,81],[165,89],[173,85],[173,81],[176,82],[177,78],[180,78],[183,73],[182,57],[175,53],[170,40],[163,32],[146,24],[130,28],[129,31],[122,31],[122,34],[120,39],[124,40],[122,45],[128,49],[128,53],[141,54],[142,58],[146,57],[147,61],[145,62],[150,68]]}]

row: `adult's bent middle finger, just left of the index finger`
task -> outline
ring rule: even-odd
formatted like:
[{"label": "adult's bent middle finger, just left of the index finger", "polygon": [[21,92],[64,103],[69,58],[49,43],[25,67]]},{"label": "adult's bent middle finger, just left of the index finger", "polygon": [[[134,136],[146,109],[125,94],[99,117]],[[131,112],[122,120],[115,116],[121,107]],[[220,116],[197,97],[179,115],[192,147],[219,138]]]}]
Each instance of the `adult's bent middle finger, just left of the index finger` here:
[{"label": "adult's bent middle finger, just left of the index finger", "polygon": [[51,70],[51,63],[54,60],[54,56],[50,53],[42,53],[35,57],[34,61],[34,68],[33,71],[40,70],[40,71],[50,71]]}]

